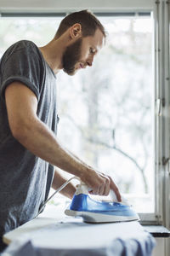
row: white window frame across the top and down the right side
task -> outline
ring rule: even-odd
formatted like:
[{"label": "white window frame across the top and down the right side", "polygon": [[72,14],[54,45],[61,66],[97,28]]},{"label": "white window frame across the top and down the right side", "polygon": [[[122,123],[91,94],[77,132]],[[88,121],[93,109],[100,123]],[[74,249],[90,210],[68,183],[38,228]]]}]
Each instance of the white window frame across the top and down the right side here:
[{"label": "white window frame across the top and down the right side", "polygon": [[[78,9],[77,9],[78,6]],[[96,14],[151,12],[154,20],[155,73],[155,203],[153,214],[140,213],[143,224],[164,224],[170,228],[170,72],[169,0],[79,0],[7,1],[0,0],[1,15],[59,16],[90,9]]]}]

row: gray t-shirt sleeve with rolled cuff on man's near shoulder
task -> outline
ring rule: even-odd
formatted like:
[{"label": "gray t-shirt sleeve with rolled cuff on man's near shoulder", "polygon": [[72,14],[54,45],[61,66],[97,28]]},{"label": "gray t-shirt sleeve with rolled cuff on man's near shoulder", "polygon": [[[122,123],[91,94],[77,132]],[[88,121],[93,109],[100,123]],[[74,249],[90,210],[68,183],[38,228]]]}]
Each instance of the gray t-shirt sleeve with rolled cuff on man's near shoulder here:
[{"label": "gray t-shirt sleeve with rolled cuff on man's near shoulder", "polygon": [[8,84],[19,81],[34,92],[39,100],[41,92],[42,65],[40,57],[32,49],[19,49],[2,62],[2,85],[0,93],[4,98],[4,91]]}]

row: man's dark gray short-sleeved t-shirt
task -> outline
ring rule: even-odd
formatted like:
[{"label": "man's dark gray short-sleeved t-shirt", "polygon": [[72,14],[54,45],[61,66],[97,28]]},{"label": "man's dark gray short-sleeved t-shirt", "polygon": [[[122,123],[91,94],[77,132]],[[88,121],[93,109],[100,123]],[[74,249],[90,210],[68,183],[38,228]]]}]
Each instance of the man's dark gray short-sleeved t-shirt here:
[{"label": "man's dark gray short-sleeved t-shirt", "polygon": [[10,131],[4,91],[14,81],[34,92],[37,117],[55,134],[58,123],[53,70],[36,44],[13,44],[0,62],[0,236],[37,215],[54,177],[54,166],[23,147]]}]

